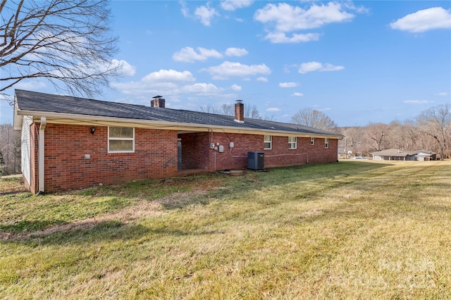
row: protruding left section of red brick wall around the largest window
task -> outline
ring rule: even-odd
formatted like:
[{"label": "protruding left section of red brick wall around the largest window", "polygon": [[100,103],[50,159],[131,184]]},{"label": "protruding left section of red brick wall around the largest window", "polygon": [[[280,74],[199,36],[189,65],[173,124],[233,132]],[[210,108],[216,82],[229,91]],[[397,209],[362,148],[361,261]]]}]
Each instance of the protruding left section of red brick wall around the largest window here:
[{"label": "protruding left section of red brick wall around the largest window", "polygon": [[177,175],[176,131],[135,128],[135,152],[109,154],[108,127],[90,128],[47,124],[46,192]]}]

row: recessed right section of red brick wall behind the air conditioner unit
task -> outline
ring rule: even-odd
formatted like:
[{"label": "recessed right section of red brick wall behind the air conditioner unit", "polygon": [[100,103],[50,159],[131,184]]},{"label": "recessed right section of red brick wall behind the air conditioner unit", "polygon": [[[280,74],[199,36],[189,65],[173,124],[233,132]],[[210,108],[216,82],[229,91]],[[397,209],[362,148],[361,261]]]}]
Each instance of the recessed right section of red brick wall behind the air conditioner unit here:
[{"label": "recessed right section of red brick wall behind the air conditioner unit", "polygon": [[[272,149],[263,149],[263,135],[242,135],[214,132],[212,142],[224,146],[220,153],[209,149],[211,133],[193,133],[179,135],[182,138],[183,160],[185,168],[205,168],[209,161],[209,170],[232,170],[247,168],[247,152],[263,151],[265,168],[286,165],[303,165],[305,163],[331,163],[337,161],[338,140],[329,139],[329,148],[324,148],[324,139],[316,138],[315,144],[310,144],[310,138],[298,137],[297,149],[288,149],[288,137],[273,136]],[[229,142],[234,143],[233,149]],[[190,147],[192,146],[192,149]],[[216,158],[215,158],[216,152]],[[216,164],[215,164],[216,162]]]}]

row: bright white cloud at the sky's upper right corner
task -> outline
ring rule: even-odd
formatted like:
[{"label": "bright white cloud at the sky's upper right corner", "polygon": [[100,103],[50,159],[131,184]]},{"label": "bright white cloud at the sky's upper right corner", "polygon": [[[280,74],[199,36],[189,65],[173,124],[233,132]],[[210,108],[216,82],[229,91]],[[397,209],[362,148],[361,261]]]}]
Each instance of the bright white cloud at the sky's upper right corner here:
[{"label": "bright white cloud at the sky's upper right corner", "polygon": [[451,28],[451,13],[441,7],[427,8],[390,23],[390,27],[408,32]]}]

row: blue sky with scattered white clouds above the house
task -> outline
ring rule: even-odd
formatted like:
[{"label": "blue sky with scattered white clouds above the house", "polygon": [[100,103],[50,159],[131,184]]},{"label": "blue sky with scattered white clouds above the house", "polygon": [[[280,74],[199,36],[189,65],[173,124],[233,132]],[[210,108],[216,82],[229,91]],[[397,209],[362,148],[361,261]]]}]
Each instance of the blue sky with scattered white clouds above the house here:
[{"label": "blue sky with scattered white clouds above the house", "polygon": [[[451,103],[450,1],[113,1],[123,76],[97,99],[199,110],[242,99],[290,122],[413,119]],[[18,89],[60,93],[46,80]],[[7,91],[13,94],[13,89]],[[13,111],[0,101],[0,123]]]}]

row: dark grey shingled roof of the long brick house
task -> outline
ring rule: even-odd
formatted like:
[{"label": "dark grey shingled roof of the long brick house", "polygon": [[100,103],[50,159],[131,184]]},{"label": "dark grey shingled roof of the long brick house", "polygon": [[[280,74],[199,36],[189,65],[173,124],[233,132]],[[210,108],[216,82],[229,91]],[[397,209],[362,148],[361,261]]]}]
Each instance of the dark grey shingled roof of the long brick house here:
[{"label": "dark grey shingled roof of the long brick house", "polygon": [[[298,134],[324,135],[328,137],[342,137],[333,132],[318,130],[312,127],[280,123],[268,120],[245,118],[244,123],[234,121],[232,115],[218,115],[202,113],[200,111],[186,111],[172,108],[156,108],[135,104],[123,104],[111,101],[85,99],[74,96],[46,94],[16,89],[15,118],[20,115],[45,116],[55,113],[76,116],[91,116],[99,118],[123,119],[124,122],[135,123],[183,123],[215,127],[235,127],[242,130],[261,130],[265,132],[292,132]],[[16,120],[15,120],[16,125]]]}]

